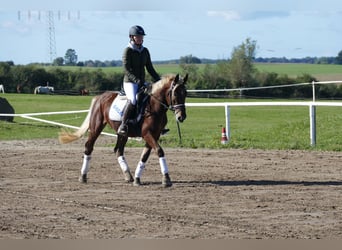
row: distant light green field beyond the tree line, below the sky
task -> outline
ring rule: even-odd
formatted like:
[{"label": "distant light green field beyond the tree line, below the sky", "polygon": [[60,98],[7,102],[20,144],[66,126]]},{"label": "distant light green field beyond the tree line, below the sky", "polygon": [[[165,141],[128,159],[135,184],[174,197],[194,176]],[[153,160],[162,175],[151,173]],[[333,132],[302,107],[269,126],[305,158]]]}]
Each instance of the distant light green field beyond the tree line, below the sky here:
[{"label": "distant light green field beyond the tree line, below the sky", "polygon": [[[199,70],[204,68],[204,64],[198,64]],[[255,67],[260,72],[275,72],[279,75],[288,75],[296,77],[302,74],[309,74],[316,77],[319,81],[334,81],[342,80],[342,65],[334,64],[297,64],[297,63],[256,63]],[[50,67],[46,67],[49,69]],[[68,67],[63,66],[68,70],[99,70],[104,73],[122,72],[122,67]],[[156,70],[160,74],[181,73],[181,68],[178,64],[157,64]]]}]

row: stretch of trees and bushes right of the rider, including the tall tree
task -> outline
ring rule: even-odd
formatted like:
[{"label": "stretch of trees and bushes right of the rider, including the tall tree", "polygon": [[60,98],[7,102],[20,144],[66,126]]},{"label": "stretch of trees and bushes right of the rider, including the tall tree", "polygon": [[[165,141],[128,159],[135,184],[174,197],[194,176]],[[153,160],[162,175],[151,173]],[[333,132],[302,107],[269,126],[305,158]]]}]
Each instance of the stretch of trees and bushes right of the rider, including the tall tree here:
[{"label": "stretch of trees and bushes right of the rider, including the tall tree", "polygon": [[[317,79],[309,74],[295,78],[274,72],[259,72],[254,65],[256,41],[247,38],[242,44],[233,48],[231,59],[217,64],[206,64],[199,70],[197,64],[180,64],[190,76],[190,89],[241,89],[311,83]],[[342,59],[342,51],[339,53]],[[217,92],[216,92],[217,93]],[[312,86],[294,86],[286,88],[269,88],[262,90],[237,90],[229,93],[217,93],[224,96],[245,96],[252,98],[312,98]],[[318,98],[341,98],[342,85],[317,85]]]}]

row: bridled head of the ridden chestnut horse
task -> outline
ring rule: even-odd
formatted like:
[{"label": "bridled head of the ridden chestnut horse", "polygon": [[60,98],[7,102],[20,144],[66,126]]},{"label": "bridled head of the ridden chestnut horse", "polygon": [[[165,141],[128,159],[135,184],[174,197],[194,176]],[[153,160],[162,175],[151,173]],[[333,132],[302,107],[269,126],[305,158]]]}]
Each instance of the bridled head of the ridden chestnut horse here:
[{"label": "bridled head of the ridden chestnut horse", "polygon": [[188,74],[184,78],[177,74],[171,82],[166,98],[170,109],[175,113],[176,120],[179,122],[183,122],[186,118],[185,98],[187,92],[185,84],[187,80]]}]

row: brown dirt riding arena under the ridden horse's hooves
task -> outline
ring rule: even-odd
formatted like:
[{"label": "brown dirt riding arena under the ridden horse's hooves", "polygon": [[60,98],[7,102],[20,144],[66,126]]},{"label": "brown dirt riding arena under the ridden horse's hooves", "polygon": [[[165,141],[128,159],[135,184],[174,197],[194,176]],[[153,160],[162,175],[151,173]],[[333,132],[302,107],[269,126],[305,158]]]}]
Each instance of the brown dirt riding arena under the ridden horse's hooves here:
[{"label": "brown dirt riding arena under the ridden horse's hooves", "polygon": [[[173,187],[152,155],[137,188],[108,140],[88,184],[83,140],[0,142],[0,239],[342,239],[340,152],[165,148]],[[140,153],[126,150],[133,172]]]}]

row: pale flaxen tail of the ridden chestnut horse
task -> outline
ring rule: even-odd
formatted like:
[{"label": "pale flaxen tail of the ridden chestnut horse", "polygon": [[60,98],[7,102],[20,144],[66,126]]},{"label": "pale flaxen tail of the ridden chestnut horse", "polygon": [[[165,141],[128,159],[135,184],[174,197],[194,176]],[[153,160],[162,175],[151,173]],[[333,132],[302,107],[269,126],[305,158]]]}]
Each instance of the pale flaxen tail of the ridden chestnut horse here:
[{"label": "pale flaxen tail of the ridden chestnut horse", "polygon": [[71,133],[71,132],[68,132],[66,130],[62,130],[61,132],[59,132],[58,140],[60,143],[66,144],[66,143],[69,143],[72,141],[76,141],[76,140],[80,139],[87,132],[87,130],[89,128],[91,111],[93,109],[93,106],[94,106],[96,100],[97,100],[97,97],[94,97],[92,99],[88,114],[87,114],[86,118],[84,119],[81,127],[77,131]]}]

